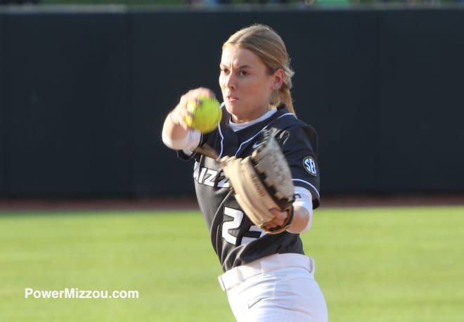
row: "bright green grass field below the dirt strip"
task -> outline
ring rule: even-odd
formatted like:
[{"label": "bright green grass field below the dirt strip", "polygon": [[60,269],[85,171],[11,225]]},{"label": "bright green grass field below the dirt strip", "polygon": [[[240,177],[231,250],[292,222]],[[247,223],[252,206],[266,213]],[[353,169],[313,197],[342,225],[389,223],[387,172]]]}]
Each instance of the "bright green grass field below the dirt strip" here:
[{"label": "bright green grass field below the dirt strip", "polygon": [[[303,239],[330,321],[464,321],[463,228],[464,207],[317,210]],[[199,212],[2,212],[0,245],[0,321],[233,321]]]}]

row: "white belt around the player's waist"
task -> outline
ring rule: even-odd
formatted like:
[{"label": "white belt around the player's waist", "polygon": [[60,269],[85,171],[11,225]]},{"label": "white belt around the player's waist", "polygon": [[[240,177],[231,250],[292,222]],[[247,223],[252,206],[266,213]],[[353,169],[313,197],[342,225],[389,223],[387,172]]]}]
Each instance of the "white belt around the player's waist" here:
[{"label": "white belt around the player's waist", "polygon": [[274,254],[226,271],[219,276],[219,284],[222,290],[228,291],[247,278],[285,267],[301,267],[314,275],[314,260],[311,257],[292,253]]}]

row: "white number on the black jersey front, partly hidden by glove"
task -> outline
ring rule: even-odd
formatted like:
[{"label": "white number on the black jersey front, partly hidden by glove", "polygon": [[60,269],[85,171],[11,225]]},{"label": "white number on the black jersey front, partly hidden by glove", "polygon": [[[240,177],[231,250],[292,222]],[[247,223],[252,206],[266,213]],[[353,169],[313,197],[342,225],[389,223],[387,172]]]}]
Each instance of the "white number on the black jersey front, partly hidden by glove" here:
[{"label": "white number on the black jersey front, partly hidden by glove", "polygon": [[247,235],[249,236],[243,236],[240,243],[237,243],[238,238],[231,234],[231,230],[240,228],[245,214],[243,214],[243,211],[241,210],[229,207],[224,207],[224,214],[233,218],[232,220],[224,221],[222,223],[222,238],[224,238],[226,242],[238,246],[250,243],[250,241],[257,240],[261,236],[264,236],[264,231],[262,231],[258,226],[251,226],[247,232]]}]

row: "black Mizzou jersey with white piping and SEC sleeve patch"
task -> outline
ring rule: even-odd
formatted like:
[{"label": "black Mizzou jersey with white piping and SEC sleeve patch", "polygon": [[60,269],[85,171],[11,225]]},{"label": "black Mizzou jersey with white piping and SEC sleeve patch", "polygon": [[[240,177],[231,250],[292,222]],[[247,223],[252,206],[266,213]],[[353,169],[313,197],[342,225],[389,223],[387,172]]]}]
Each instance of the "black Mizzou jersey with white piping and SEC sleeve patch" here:
[{"label": "black Mizzou jersey with white piping and SEC sleeve patch", "polygon": [[[220,157],[247,157],[254,150],[258,134],[269,129],[288,160],[294,185],[311,191],[313,207],[318,207],[316,131],[281,105],[268,119],[234,132],[228,125],[230,115],[224,106],[222,109],[221,124],[216,130],[203,135],[200,144],[207,143]],[[285,231],[268,235],[248,219],[216,161],[198,153],[186,155],[179,151],[178,155],[184,160],[195,159],[193,179],[198,205],[224,271],[277,253],[304,254],[299,234]]]}]

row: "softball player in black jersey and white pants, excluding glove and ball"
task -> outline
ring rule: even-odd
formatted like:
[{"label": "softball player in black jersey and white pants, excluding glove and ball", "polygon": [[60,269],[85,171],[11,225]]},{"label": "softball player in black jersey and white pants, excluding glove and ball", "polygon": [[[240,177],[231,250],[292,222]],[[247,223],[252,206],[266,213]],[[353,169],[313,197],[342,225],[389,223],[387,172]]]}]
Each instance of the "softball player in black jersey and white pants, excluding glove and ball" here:
[{"label": "softball player in black jersey and white pants, excluding glove and ball", "polygon": [[[328,321],[326,302],[314,280],[314,260],[304,255],[299,236],[310,228],[313,209],[319,205],[317,134],[293,111],[288,61],[285,44],[270,27],[239,30],[222,48],[219,85],[224,103],[219,127],[200,134],[185,123],[188,101],[214,96],[210,89],[200,88],[181,97],[162,130],[163,141],[181,159],[195,160],[195,193],[224,270],[219,283],[240,322]],[[220,165],[191,152],[207,143],[220,157],[247,157],[264,129],[282,147],[296,195],[292,225],[272,235],[248,219]],[[266,229],[281,226],[288,216],[269,211],[274,219]]]}]

